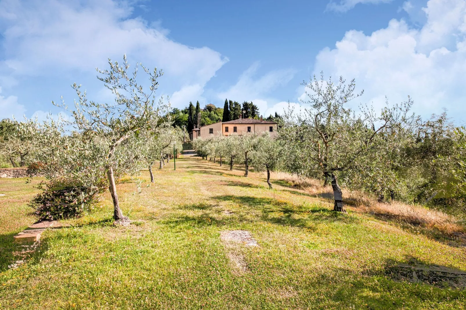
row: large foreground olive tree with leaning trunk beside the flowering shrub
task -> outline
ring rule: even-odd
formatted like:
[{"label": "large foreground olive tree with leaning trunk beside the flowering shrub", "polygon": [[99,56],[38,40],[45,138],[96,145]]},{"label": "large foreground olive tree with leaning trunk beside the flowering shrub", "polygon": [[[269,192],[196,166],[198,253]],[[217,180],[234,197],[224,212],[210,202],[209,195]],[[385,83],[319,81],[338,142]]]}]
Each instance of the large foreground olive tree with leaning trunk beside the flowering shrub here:
[{"label": "large foreground olive tree with leaning trunk beside the flowering shrub", "polygon": [[[157,118],[160,111],[165,110],[156,105],[155,99],[162,72],[157,68],[151,72],[141,65],[149,77],[149,91],[145,92],[142,85],[136,82],[138,66],[131,74],[126,55],[123,56],[122,65],[110,59],[109,65],[109,70],[96,70],[101,74],[97,78],[114,94],[113,103],[88,101],[86,92],[76,84],[72,86],[78,96],[74,109],[69,109],[64,101],[54,103],[71,113],[69,128],[73,128],[79,136],[79,139],[70,140],[70,145],[63,142],[64,148],[56,150],[62,158],[75,160],[77,166],[80,159],[85,159],[86,162],[94,162],[94,166],[105,172],[113,200],[115,223],[128,225],[129,218],[123,216],[118,202],[115,174],[134,173],[143,164],[140,150],[137,149],[138,142],[144,136],[141,133],[153,124],[151,120]],[[59,170],[67,174],[75,169],[63,166]]]}]

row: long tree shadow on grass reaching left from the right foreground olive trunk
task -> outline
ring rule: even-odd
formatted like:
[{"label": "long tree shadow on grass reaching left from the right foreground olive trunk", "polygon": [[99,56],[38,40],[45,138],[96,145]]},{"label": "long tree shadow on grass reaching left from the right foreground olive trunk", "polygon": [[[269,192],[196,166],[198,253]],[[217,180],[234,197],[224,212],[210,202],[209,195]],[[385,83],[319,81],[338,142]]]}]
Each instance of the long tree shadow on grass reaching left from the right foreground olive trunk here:
[{"label": "long tree shadow on grass reaching left from the right foreground olive trunk", "polygon": [[221,195],[213,197],[224,202],[233,202],[247,207],[259,209],[262,212],[260,219],[285,226],[310,228],[315,223],[358,221],[354,216],[336,212],[320,204],[303,203],[300,205],[280,201],[274,198],[260,198],[253,196]]}]

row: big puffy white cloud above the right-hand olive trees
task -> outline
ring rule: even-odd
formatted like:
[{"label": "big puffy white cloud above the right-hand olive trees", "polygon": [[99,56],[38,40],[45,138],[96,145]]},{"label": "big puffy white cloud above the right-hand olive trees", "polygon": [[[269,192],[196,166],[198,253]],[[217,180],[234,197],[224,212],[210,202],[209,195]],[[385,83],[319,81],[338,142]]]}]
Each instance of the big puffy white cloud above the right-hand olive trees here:
[{"label": "big puffy white cloud above the right-hand olive trees", "polygon": [[466,1],[430,0],[423,9],[427,21],[421,29],[403,20],[370,35],[348,31],[334,49],[325,48],[316,57],[315,72],[356,78],[363,88],[363,102],[415,101],[423,115],[446,107],[464,112],[466,87]]}]

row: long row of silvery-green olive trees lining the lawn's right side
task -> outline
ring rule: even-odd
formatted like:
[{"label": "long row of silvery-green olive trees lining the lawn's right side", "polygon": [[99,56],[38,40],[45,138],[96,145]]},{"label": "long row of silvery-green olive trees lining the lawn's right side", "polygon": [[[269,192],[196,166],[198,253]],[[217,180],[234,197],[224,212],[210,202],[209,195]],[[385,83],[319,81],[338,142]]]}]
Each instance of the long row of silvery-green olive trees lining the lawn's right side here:
[{"label": "long row of silvery-green olive trees lining the lawn's right side", "polygon": [[[197,139],[199,155],[225,158],[256,170],[281,170],[331,184],[334,209],[343,211],[340,184],[370,192],[383,202],[436,202],[463,206],[466,190],[465,129],[446,116],[428,121],[410,113],[413,102],[387,105],[376,114],[362,107],[355,113],[348,102],[361,96],[355,82],[336,83],[323,76],[304,83],[308,100],[302,111],[288,109],[278,120],[275,140],[264,135],[230,135]],[[221,163],[221,162],[220,162]],[[340,181],[340,182],[339,182]]]}]

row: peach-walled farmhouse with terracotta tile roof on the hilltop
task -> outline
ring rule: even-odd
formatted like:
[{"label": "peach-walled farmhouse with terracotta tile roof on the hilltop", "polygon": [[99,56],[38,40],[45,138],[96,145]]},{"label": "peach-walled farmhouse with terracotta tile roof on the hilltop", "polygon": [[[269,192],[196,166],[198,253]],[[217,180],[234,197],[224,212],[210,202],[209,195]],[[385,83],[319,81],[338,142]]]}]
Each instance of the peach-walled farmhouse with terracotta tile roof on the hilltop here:
[{"label": "peach-walled farmhouse with terracotta tile roof on the hilltop", "polygon": [[234,121],[219,121],[218,123],[202,126],[201,128],[194,128],[194,130],[192,130],[192,138],[206,138],[212,135],[242,135],[247,132],[256,134],[268,132],[270,136],[274,138],[277,134],[277,123],[274,121],[264,121],[262,117],[260,120],[240,118]]}]

